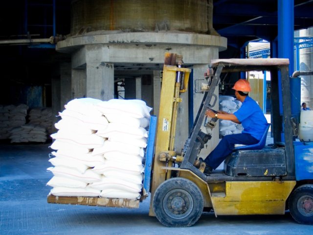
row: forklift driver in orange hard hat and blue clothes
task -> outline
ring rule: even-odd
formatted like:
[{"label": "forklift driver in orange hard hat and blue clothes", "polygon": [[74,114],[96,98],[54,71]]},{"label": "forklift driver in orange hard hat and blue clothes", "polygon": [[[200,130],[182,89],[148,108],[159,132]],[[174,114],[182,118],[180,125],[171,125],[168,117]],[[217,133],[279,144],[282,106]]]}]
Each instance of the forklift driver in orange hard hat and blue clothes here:
[{"label": "forklift driver in orange hard hat and blue clothes", "polygon": [[242,124],[244,130],[240,134],[225,135],[216,148],[204,159],[204,174],[209,175],[233,151],[235,144],[252,145],[262,138],[267,129],[268,122],[260,106],[248,96],[251,87],[246,79],[239,79],[232,89],[235,90],[237,100],[242,106],[233,114],[224,111],[213,112],[208,109],[205,115],[211,118],[230,120]]}]

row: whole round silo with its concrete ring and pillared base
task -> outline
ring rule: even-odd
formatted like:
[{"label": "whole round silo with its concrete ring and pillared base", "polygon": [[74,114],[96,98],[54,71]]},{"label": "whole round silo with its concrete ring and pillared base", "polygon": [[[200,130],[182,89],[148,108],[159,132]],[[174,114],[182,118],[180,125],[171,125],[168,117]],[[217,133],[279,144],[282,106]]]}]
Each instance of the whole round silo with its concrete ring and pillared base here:
[{"label": "whole round silo with its concrete ring and pillared base", "polygon": [[[123,81],[124,98],[146,101],[157,115],[165,52],[183,55],[195,79],[226,50],[212,14],[213,0],[72,0],[70,34],[56,47],[71,54],[71,98],[118,98],[116,84]],[[188,136],[184,96],[178,148]],[[198,110],[203,94],[192,96],[191,106]]]}]

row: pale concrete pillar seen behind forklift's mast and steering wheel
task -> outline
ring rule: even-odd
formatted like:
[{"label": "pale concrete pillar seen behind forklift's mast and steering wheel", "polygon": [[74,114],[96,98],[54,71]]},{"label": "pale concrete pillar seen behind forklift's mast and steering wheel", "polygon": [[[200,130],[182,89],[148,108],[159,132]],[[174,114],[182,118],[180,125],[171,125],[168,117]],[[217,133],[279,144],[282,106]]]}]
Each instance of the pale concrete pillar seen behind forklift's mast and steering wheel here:
[{"label": "pale concrete pillar seen behind forklift's mast and steering wheel", "polygon": [[[200,65],[194,65],[193,68],[193,74],[194,74],[194,80],[196,80],[197,78],[203,78],[203,74],[206,71],[206,69],[208,68],[207,64],[200,64]],[[196,93],[195,92],[196,87],[194,88],[194,119],[197,116],[201,101],[203,99],[203,94],[201,93]],[[217,97],[219,96],[219,89],[218,87],[216,87],[214,94],[217,95]],[[213,107],[214,110],[219,110],[219,102],[217,101],[215,106]],[[212,152],[212,150],[217,146],[217,144],[219,143],[219,124],[217,124],[215,126],[215,128],[213,129],[213,132],[211,132],[210,129],[206,129],[203,127],[201,127],[201,131],[203,131],[204,133],[211,133],[212,134],[212,138],[208,141],[207,143],[207,148],[204,147],[203,150],[201,150],[200,153],[200,157],[202,157],[203,159],[205,157],[207,157],[207,155],[209,153]]]}]

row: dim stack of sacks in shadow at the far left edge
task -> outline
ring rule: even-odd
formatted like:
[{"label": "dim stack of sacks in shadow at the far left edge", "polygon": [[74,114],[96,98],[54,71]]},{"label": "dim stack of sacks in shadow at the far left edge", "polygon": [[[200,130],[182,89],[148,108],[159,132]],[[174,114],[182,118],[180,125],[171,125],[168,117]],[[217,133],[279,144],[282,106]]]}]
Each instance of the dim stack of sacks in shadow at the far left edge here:
[{"label": "dim stack of sacks in shadow at the far left edge", "polygon": [[0,105],[0,139],[8,139],[13,128],[26,123],[27,109],[26,104]]}]

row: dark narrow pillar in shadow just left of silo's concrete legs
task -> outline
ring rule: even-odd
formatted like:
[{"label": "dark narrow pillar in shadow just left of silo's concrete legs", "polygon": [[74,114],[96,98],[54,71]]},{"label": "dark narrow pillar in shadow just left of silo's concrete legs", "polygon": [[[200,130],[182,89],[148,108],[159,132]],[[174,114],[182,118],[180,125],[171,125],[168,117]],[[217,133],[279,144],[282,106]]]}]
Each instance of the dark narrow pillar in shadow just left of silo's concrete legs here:
[{"label": "dark narrow pillar in shadow just left of silo's concrete legs", "polygon": [[60,82],[61,82],[61,109],[64,110],[64,104],[67,104],[71,99],[71,63],[64,61],[60,63]]}]

